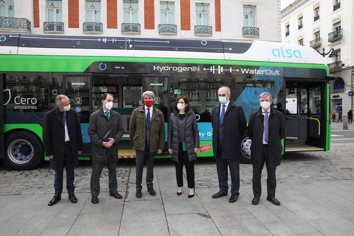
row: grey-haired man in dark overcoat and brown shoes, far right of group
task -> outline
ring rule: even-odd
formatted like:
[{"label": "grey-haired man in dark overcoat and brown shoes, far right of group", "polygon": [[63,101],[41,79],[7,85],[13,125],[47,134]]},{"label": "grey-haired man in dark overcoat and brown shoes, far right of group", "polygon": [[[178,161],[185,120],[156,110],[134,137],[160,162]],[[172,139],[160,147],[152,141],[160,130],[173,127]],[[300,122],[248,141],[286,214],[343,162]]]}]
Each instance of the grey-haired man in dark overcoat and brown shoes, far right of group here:
[{"label": "grey-haired man in dark overcoat and brown shoes, far right of group", "polygon": [[272,96],[269,93],[259,95],[260,108],[250,115],[248,121],[248,136],[252,140],[251,161],[253,165],[253,200],[257,205],[261,195],[260,175],[264,166],[267,166],[267,200],[280,205],[275,198],[277,185],[275,171],[280,165],[283,147],[281,140],[285,138],[284,114],[271,107]]}]

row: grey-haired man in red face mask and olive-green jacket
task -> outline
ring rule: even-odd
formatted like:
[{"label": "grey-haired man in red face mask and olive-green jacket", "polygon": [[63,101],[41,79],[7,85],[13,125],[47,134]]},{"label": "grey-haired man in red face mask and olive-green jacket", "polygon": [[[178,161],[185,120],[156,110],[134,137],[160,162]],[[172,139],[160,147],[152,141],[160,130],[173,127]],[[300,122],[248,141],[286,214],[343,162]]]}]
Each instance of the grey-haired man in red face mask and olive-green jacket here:
[{"label": "grey-haired man in red face mask and olive-green jacket", "polygon": [[146,91],[142,94],[144,104],[133,110],[129,123],[129,136],[132,148],[136,152],[136,194],[142,197],[141,182],[145,160],[146,187],[150,195],[155,196],[154,190],[154,160],[155,154],[161,154],[165,147],[165,121],[163,113],[153,104],[155,94]]}]

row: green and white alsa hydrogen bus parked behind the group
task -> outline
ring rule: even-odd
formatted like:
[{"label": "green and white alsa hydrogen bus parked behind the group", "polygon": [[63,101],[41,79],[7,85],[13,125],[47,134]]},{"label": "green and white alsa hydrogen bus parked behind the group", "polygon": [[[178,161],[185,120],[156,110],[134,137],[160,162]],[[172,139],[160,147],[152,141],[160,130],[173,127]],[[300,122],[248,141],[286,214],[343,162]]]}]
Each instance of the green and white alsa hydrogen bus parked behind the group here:
[{"label": "green and white alsa hydrogen bus parked behind the group", "polygon": [[[126,131],[119,156],[134,158],[130,115],[146,90],[155,93],[166,127],[174,100],[189,98],[200,132],[198,156],[210,157],[211,110],[222,85],[230,87],[231,100],[243,106],[247,120],[259,108],[259,94],[272,94],[273,108],[286,117],[284,153],[328,151],[330,85],[325,63],[310,47],[277,42],[0,34],[0,157],[19,170],[47,159],[43,117],[56,106],[55,96],[65,94],[80,116],[80,158],[89,159],[88,120],[108,92]],[[241,161],[249,163],[247,135],[235,145],[240,145]],[[169,157],[166,148],[159,157]]]}]

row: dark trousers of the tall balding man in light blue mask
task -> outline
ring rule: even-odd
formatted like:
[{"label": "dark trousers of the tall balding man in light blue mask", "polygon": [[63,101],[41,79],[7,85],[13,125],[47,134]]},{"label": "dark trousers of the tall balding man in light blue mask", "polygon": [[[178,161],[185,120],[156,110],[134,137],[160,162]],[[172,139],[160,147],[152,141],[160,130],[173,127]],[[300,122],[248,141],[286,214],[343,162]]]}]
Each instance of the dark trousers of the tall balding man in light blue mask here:
[{"label": "dark trousers of the tall balding man in light blue mask", "polygon": [[216,170],[218,171],[220,192],[228,192],[228,172],[227,166],[230,169],[231,175],[231,194],[239,196],[240,190],[240,162],[237,159],[222,159],[221,149],[218,151],[216,159]]}]

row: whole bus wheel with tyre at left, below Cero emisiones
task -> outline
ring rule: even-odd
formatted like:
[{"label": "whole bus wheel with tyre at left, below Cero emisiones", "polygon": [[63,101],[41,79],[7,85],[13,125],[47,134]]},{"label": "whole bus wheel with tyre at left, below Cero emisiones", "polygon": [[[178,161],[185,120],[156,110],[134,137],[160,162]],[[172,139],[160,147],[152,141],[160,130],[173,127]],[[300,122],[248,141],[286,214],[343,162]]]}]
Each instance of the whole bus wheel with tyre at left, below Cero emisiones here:
[{"label": "whole bus wheel with tyre at left, below Cero emisiones", "polygon": [[5,138],[4,165],[13,170],[30,170],[38,166],[44,157],[41,141],[27,132],[15,132]]}]

